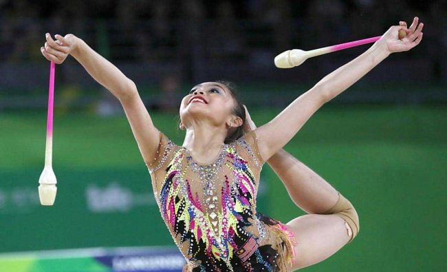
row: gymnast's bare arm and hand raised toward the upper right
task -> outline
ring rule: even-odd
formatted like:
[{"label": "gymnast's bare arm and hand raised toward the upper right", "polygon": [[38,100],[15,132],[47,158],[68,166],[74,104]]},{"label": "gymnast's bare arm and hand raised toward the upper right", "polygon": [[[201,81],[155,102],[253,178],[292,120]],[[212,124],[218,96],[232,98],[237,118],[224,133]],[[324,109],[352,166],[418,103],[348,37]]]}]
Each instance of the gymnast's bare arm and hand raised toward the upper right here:
[{"label": "gymnast's bare arm and hand raised toward the upper right", "polygon": [[[407,51],[419,44],[422,39],[422,23],[417,29],[417,21],[413,25],[414,28],[410,30],[407,30],[405,25],[391,26],[366,52],[325,76],[272,121],[254,129],[263,160],[267,161],[284,147],[321,106],[356,83],[389,54]],[[398,39],[397,34],[400,29],[408,33],[402,40]]]}]

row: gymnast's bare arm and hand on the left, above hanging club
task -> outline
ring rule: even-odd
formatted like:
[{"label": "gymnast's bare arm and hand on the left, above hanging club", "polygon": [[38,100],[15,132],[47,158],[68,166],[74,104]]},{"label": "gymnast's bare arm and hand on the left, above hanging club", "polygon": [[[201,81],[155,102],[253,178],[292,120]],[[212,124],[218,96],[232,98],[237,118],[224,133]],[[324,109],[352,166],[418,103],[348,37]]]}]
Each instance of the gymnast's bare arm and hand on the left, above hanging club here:
[{"label": "gymnast's bare arm and hand on the left, above hanging club", "polygon": [[41,48],[43,56],[49,61],[61,64],[69,54],[78,61],[98,83],[104,86],[120,101],[131,125],[133,136],[144,159],[149,165],[155,157],[160,143],[160,133],[153,125],[151,116],[138,94],[137,87],[131,79],[107,61],[82,39],[67,34],[56,35],[56,41],[49,33],[45,34],[45,47]]}]

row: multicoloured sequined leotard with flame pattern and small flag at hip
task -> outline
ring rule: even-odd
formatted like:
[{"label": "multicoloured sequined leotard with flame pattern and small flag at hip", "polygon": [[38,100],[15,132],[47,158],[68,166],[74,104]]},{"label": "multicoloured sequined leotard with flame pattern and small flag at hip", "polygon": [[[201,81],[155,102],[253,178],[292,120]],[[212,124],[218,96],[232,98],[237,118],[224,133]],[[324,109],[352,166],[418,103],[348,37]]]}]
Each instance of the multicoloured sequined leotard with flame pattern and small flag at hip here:
[{"label": "multicoloured sequined leotard with flame pattern and small flag at hip", "polygon": [[223,144],[210,165],[160,132],[157,156],[146,165],[184,271],[286,271],[293,234],[256,211],[263,163],[254,132]]}]

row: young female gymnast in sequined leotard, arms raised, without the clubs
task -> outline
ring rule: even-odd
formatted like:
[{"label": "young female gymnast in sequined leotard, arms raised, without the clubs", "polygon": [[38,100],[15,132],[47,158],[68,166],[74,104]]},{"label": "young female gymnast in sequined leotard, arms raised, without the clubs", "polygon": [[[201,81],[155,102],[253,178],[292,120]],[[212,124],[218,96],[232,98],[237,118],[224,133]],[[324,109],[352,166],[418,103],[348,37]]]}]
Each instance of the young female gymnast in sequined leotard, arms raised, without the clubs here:
[{"label": "young female gymnast in sequined leotard, arms raised, without the clubs", "polygon": [[[46,59],[68,54],[119,99],[151,174],[162,218],[187,264],[184,271],[293,271],[316,264],[356,237],[351,202],[282,147],[325,103],[393,52],[422,40],[422,23],[394,25],[371,48],[325,76],[272,121],[255,127],[232,86],[193,87],[180,104],[182,146],[151,121],[138,90],[117,67],[73,34],[46,34]],[[402,40],[397,32],[407,33]],[[259,174],[267,162],[292,200],[309,214],[287,224],[256,211]]]}]

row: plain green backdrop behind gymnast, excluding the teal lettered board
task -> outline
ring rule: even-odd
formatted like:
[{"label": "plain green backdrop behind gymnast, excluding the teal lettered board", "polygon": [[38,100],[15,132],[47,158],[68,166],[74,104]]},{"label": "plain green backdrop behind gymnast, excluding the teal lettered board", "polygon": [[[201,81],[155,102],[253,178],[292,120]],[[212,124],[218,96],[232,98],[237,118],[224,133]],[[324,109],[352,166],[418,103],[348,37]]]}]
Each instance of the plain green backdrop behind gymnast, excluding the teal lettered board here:
[{"label": "plain green backdrop behind gymnast, excluding the teal lettered board", "polygon": [[[261,125],[281,109],[249,110]],[[441,106],[370,105],[325,105],[312,116],[285,149],[351,200],[361,230],[354,242],[305,271],[441,271],[447,244],[446,117],[447,107]],[[182,145],[174,115],[152,118]],[[0,114],[0,187],[2,171],[43,167],[45,122],[45,112]],[[78,113],[56,112],[53,158],[56,172],[142,165],[124,117]],[[263,176],[265,213],[283,222],[303,214],[267,165]]]}]

